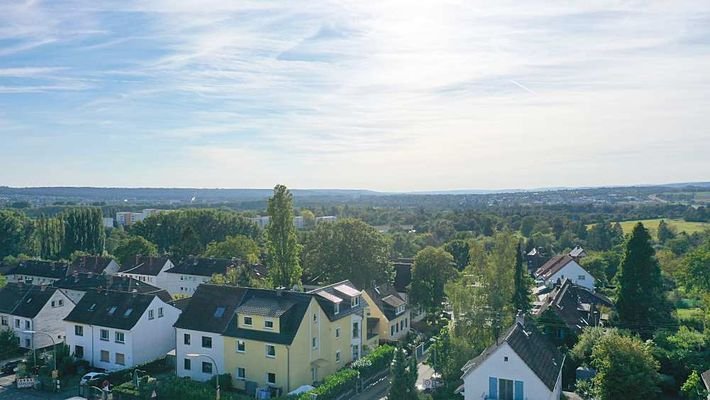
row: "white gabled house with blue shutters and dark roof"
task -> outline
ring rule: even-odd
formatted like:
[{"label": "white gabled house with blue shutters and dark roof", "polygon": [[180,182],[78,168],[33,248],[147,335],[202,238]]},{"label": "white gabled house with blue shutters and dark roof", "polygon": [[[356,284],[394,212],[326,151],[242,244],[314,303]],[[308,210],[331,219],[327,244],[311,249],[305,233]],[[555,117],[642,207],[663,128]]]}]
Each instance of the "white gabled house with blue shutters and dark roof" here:
[{"label": "white gabled house with blue shutters and dark roof", "polygon": [[520,314],[496,343],[464,365],[456,391],[465,400],[559,400],[564,361]]}]

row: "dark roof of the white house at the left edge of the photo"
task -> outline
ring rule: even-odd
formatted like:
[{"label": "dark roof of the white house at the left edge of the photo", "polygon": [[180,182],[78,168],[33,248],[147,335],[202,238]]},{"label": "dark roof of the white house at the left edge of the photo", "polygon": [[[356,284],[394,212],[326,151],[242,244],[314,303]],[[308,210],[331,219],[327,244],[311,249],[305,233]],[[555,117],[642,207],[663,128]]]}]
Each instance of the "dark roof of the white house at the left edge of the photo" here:
[{"label": "dark roof of the white house at the left edge of the photo", "polygon": [[53,287],[8,283],[0,289],[0,312],[34,318],[56,291]]}]

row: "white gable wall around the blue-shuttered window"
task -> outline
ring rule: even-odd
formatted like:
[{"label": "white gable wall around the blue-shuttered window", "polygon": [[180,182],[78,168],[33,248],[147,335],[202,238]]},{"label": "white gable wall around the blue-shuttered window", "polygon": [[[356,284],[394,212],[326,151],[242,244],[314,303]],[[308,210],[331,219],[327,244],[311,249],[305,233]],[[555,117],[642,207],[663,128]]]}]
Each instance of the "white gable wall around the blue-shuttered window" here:
[{"label": "white gable wall around the blue-shuttered window", "polygon": [[[508,357],[508,361],[505,361],[505,357]],[[485,396],[489,395],[489,377],[522,381],[523,398],[526,400],[559,400],[560,398],[559,388],[555,388],[554,391],[548,389],[507,343],[503,343],[483,364],[469,371],[464,377],[464,399],[485,399]]]}]

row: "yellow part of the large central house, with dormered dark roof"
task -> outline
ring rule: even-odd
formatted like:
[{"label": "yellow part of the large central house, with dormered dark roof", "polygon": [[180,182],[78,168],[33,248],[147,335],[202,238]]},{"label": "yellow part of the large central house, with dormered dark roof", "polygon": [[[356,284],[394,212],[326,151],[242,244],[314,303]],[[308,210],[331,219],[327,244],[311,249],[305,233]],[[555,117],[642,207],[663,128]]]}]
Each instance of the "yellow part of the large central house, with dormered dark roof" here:
[{"label": "yellow part of the large central house, with dormered dark roof", "polygon": [[350,282],[308,293],[239,289],[223,332],[224,371],[236,388],[284,395],[361,356],[366,303]]}]

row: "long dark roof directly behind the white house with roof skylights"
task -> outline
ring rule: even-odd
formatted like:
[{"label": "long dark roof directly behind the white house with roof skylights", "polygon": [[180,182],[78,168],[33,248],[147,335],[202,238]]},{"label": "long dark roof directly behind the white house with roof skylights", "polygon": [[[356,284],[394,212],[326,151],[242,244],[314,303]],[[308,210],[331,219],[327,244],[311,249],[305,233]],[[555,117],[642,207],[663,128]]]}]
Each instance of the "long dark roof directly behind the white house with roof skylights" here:
[{"label": "long dark roof directly behind the white house with roof skylights", "polygon": [[141,282],[128,276],[96,275],[91,272],[74,272],[64,279],[60,279],[52,286],[62,291],[74,303],[78,303],[84,295],[92,290],[113,290],[116,292],[136,292],[143,294],[157,294],[161,300],[168,303],[172,301],[170,294],[159,287]]}]

